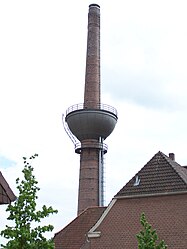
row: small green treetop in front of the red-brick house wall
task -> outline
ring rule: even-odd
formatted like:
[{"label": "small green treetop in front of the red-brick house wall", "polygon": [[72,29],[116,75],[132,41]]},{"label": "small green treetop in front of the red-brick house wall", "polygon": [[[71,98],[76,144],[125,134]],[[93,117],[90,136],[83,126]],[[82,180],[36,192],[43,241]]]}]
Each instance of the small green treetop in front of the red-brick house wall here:
[{"label": "small green treetop in front of the red-brick house wall", "polygon": [[143,230],[136,235],[138,239],[138,249],[167,249],[167,245],[163,240],[158,242],[158,235],[156,230],[152,229],[151,225],[147,222],[145,214],[141,214],[140,218]]}]

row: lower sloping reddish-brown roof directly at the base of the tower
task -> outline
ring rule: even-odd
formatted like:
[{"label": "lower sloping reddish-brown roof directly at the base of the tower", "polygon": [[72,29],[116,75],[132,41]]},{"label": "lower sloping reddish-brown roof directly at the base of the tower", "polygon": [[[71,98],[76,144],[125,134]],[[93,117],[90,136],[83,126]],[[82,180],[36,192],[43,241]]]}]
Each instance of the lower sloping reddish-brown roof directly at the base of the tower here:
[{"label": "lower sloping reddish-brown roof directly at the base of the tower", "polygon": [[106,207],[90,207],[79,214],[65,228],[55,234],[55,249],[80,249],[86,234],[95,225]]}]

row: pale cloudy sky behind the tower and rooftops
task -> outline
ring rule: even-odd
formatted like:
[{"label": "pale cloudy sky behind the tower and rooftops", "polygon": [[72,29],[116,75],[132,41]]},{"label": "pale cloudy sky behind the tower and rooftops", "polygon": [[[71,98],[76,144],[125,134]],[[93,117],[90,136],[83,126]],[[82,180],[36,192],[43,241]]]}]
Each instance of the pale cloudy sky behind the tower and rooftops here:
[{"label": "pale cloudy sky behind the tower and rooftops", "polygon": [[119,117],[105,140],[105,205],[158,151],[187,164],[185,0],[0,1],[0,170],[17,194],[22,157],[39,154],[38,206],[58,209],[44,221],[50,237],[77,214],[79,155],[62,114],[83,102],[91,3],[101,7],[101,100]]}]

